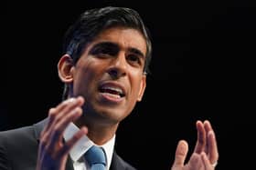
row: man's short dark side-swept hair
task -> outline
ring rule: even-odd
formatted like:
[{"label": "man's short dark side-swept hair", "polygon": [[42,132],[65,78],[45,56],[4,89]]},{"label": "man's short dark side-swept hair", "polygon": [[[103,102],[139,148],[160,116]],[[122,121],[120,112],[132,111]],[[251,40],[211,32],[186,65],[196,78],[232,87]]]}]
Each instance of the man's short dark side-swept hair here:
[{"label": "man's short dark side-swept hair", "polygon": [[[63,53],[69,54],[74,64],[94,38],[101,31],[114,26],[124,26],[138,30],[146,41],[146,55],[144,73],[149,72],[149,63],[152,55],[151,37],[141,16],[133,9],[126,7],[106,6],[85,11],[78,20],[69,27],[64,36]],[[67,97],[67,85],[63,97]],[[66,93],[66,96],[64,96]]]}]

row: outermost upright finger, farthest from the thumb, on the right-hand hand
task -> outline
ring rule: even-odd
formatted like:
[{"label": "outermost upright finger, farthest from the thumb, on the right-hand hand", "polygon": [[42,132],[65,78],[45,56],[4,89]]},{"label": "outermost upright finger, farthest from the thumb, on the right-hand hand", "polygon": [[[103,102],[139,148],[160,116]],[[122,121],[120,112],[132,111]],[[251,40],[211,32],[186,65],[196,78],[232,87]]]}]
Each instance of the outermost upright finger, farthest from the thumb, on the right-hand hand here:
[{"label": "outermost upright finger, farthest from the thumb, on the right-hand hand", "polygon": [[219,159],[219,152],[215,133],[208,121],[204,122],[204,127],[207,131],[207,154],[211,164],[214,164]]}]

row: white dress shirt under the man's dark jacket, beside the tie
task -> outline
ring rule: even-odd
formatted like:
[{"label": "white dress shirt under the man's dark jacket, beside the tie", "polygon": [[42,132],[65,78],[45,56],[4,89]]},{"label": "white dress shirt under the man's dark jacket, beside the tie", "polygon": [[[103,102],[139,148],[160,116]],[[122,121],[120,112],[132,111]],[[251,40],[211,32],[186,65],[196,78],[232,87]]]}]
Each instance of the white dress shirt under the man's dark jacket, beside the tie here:
[{"label": "white dress shirt under the man's dark jacket, beside the tie", "polygon": [[[77,125],[70,123],[64,131],[64,134],[63,134],[64,140],[68,141],[79,130],[80,128]],[[106,144],[100,145],[106,153],[107,170],[110,169],[110,164],[112,162],[114,142],[115,142],[115,135]],[[95,144],[88,138],[87,135],[84,135],[80,138],[78,143],[71,148],[71,150],[69,151],[69,155],[71,157],[71,160],[73,161],[74,170],[90,170],[90,166],[88,165],[88,163],[86,162],[86,160],[83,158],[82,155],[84,155],[92,145],[95,145]]]}]

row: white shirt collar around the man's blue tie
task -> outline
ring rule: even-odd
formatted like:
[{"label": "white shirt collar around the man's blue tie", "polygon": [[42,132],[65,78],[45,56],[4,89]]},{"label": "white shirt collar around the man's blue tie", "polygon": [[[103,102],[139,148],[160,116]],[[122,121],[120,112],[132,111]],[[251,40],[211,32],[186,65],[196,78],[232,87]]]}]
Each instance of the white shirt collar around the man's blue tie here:
[{"label": "white shirt collar around the man's blue tie", "polygon": [[[77,125],[70,123],[64,131],[64,134],[63,134],[64,140],[68,141],[79,130],[80,128]],[[101,147],[103,147],[106,153],[108,166],[112,162],[114,142],[115,142],[115,135],[107,143],[105,143],[104,145],[101,145]],[[87,135],[82,136],[80,140],[69,151],[69,155],[71,159],[74,162],[77,162],[80,159],[80,156],[84,155],[92,145],[95,145],[95,144],[91,141],[91,139],[89,139]]]}]

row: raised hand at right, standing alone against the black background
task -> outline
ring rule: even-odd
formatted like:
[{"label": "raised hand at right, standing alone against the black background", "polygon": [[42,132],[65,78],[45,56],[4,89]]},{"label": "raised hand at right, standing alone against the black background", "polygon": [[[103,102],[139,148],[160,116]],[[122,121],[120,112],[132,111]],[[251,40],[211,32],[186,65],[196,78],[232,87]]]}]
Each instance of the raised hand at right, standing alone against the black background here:
[{"label": "raised hand at right, standing alone against the black background", "polygon": [[214,170],[219,152],[214,131],[208,121],[197,121],[197,144],[187,164],[188,145],[184,140],[176,147],[175,162],[171,170]]}]

